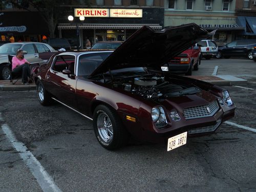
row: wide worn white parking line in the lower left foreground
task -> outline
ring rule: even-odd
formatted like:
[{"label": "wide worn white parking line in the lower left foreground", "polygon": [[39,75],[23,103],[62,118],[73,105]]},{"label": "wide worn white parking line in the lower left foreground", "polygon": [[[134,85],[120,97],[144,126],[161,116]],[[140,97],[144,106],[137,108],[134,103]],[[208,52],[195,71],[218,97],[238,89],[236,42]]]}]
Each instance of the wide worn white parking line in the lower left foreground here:
[{"label": "wide worn white parking line in the lower left foreground", "polygon": [[59,187],[54,183],[52,177],[46,172],[45,168],[39,163],[35,156],[33,156],[33,154],[30,151],[28,151],[28,148],[25,146],[25,144],[23,142],[18,141],[15,138],[10,127],[7,124],[3,124],[2,129],[8,137],[8,139],[10,140],[13,147],[15,148],[15,150],[19,152],[19,156],[29,167],[30,172],[36,178],[36,181],[40,185],[42,191],[61,192]]}]

